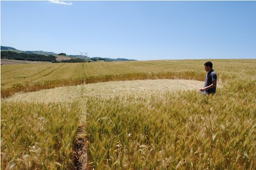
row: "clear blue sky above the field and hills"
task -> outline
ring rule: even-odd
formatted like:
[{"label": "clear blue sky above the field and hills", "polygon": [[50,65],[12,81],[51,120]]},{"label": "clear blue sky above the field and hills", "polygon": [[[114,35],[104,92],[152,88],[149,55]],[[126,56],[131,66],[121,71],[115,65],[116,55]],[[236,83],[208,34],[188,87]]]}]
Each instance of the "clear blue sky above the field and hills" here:
[{"label": "clear blue sky above the field and hills", "polygon": [[1,1],[1,45],[136,60],[256,59],[255,9],[256,1]]}]

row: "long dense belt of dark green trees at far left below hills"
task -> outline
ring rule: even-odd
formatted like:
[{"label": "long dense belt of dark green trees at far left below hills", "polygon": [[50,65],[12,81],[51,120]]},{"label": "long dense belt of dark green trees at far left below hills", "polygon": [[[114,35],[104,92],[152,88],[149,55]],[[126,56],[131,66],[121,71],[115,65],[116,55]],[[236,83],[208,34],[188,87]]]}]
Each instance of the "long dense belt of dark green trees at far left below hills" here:
[{"label": "long dense belt of dark green trees at far left below hills", "polygon": [[1,59],[56,62],[56,57],[53,55],[16,53],[16,52],[10,52],[10,51],[1,52]]}]

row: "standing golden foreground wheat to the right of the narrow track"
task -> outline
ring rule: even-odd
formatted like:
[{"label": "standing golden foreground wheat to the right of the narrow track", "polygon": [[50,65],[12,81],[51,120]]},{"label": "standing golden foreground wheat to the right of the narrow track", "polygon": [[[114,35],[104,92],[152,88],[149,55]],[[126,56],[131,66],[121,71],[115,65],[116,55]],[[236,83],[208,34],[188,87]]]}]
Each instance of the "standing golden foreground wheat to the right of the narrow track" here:
[{"label": "standing golden foreground wheat to the right of the narrow track", "polygon": [[255,169],[256,88],[244,83],[205,99],[197,91],[88,99],[93,167]]}]

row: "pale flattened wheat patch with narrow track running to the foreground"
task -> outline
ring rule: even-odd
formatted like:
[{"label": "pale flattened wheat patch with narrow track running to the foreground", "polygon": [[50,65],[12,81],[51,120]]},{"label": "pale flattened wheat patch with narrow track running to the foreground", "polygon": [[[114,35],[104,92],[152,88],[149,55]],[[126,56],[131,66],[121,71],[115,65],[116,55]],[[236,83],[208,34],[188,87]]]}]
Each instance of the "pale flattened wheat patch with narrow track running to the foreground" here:
[{"label": "pale flattened wheat patch with narrow track running to the foreground", "polygon": [[86,102],[88,97],[115,97],[138,96],[149,97],[152,94],[165,94],[178,90],[198,90],[204,86],[204,81],[196,80],[134,80],[111,81],[105,83],[93,83],[70,87],[57,87],[54,89],[15,94],[5,99],[7,101],[26,101],[39,103],[79,101],[81,112],[79,113],[79,128],[76,138],[76,169],[88,168],[88,142],[84,125],[86,124]]}]

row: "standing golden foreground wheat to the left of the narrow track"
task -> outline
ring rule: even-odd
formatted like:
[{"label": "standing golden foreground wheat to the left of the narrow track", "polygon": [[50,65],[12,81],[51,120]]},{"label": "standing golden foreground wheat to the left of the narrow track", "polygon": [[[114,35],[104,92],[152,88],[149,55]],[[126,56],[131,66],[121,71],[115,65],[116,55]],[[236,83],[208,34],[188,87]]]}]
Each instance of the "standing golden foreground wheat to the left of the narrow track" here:
[{"label": "standing golden foreground wheat to the left of the narrow track", "polygon": [[72,169],[77,103],[1,103],[1,167]]}]

